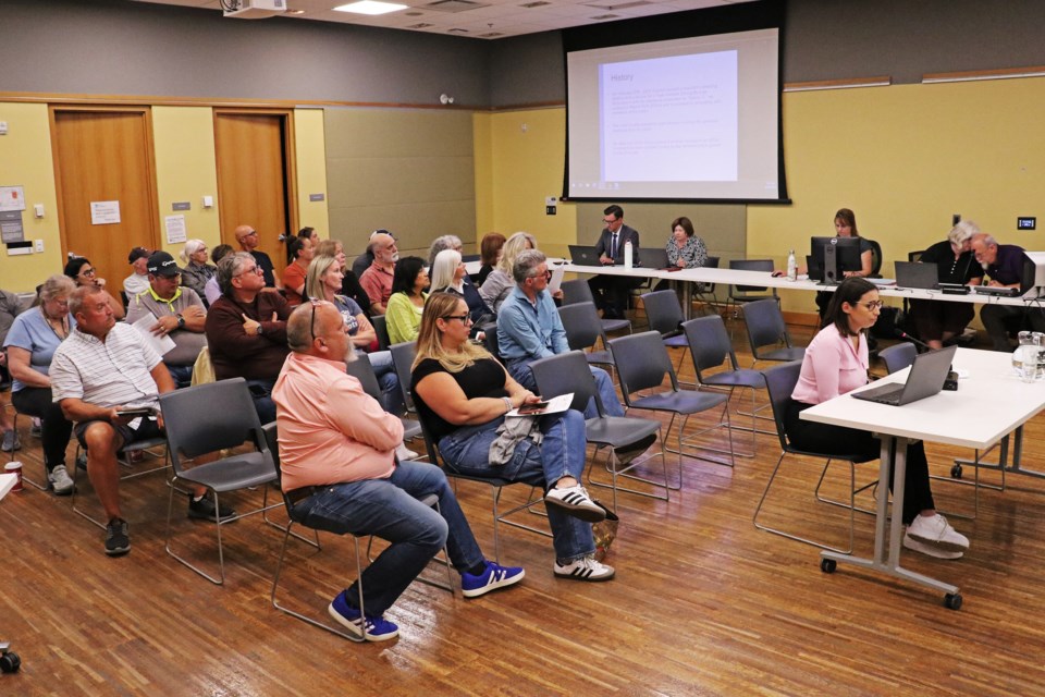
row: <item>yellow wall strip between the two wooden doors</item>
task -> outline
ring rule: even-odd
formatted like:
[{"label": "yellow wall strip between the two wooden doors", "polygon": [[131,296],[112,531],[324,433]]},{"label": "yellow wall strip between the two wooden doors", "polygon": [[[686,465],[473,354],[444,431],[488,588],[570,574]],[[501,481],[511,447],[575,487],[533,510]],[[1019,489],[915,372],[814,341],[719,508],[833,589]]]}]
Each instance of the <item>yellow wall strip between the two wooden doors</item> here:
[{"label": "yellow wall strip between the two wooden doors", "polygon": [[[168,216],[185,216],[188,240],[202,240],[211,248],[221,244],[214,117],[210,107],[152,107],[152,140],[161,246],[175,259],[184,246],[181,242],[168,244]],[[214,206],[204,208],[204,196],[212,196]],[[192,208],[176,211],[171,207],[175,201],[188,201]]]}]

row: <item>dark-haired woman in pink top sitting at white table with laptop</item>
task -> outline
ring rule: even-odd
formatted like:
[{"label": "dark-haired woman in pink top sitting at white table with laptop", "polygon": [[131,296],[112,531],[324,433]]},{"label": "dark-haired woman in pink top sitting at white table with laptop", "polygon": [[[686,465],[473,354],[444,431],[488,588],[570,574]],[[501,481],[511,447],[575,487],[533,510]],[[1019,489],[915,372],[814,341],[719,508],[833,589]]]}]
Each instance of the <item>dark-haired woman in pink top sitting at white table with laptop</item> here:
[{"label": "dark-haired woman in pink top sitting at white table with laptop", "polygon": [[[868,383],[866,332],[881,309],[877,289],[862,278],[846,279],[833,294],[823,329],[806,348],[798,384],[787,404],[784,426],[796,448],[824,454],[858,454],[857,462],[880,456],[881,442],[870,431],[806,421],[800,415],[810,406]],[[937,559],[959,559],[969,548],[969,540],[936,513],[921,441],[907,448],[903,490],[903,547]]]}]

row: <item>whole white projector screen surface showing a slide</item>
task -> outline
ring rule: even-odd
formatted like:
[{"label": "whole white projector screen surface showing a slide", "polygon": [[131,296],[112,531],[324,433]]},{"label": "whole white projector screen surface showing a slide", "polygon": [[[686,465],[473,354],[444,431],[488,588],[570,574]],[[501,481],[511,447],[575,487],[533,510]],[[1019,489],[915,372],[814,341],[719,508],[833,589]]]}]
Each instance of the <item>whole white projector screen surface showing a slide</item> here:
[{"label": "whole white projector screen surface showing a slide", "polygon": [[779,200],[777,28],[566,52],[575,200]]}]

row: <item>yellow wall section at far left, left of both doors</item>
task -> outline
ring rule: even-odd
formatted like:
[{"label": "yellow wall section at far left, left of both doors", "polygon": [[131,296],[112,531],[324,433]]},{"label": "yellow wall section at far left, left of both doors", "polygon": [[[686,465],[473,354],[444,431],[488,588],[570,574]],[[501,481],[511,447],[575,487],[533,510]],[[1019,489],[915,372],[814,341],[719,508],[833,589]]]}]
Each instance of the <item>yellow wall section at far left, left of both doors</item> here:
[{"label": "yellow wall section at far left, left of both doors", "polygon": [[[42,254],[26,256],[8,256],[0,245],[0,288],[29,292],[63,266],[47,105],[0,102],[0,121],[8,122],[8,134],[0,135],[0,186],[25,187],[25,239],[44,241]],[[44,204],[44,218],[34,216],[34,204]]]}]

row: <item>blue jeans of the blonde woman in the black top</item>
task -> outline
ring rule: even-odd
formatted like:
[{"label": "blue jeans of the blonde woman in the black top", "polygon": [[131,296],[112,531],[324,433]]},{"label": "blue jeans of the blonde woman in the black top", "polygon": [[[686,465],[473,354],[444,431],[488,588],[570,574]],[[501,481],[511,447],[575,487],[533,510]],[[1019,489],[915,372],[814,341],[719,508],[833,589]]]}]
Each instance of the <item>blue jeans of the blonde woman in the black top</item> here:
[{"label": "blue jeans of the blonde woman in the black top", "polygon": [[[465,426],[439,441],[439,452],[446,466],[472,477],[499,477],[550,489],[556,481],[571,476],[577,481],[585,472],[588,440],[585,438],[585,418],[569,409],[541,418],[544,440],[540,448],[530,440],[515,449],[512,462],[503,467],[490,464],[490,443],[496,439],[497,427],[504,417],[480,426]],[[555,557],[571,562],[595,551],[591,524],[567,515],[555,506],[545,506],[552,527]]]}]

